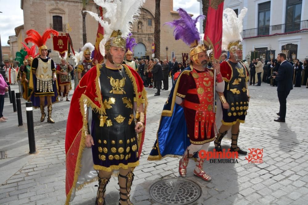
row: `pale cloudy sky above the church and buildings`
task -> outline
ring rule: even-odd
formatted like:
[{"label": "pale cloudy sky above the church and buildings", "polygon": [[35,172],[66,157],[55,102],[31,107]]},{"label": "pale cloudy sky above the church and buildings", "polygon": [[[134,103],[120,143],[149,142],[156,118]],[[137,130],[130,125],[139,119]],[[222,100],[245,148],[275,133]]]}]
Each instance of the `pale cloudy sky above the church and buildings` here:
[{"label": "pale cloudy sky above the church and buildings", "polygon": [[[185,9],[194,18],[199,15],[199,2],[197,0],[174,0],[173,10]],[[1,44],[8,45],[9,36],[15,35],[14,28],[23,24],[23,11],[20,0],[0,0],[0,35]],[[163,15],[163,14],[162,14]],[[199,23],[197,24],[199,28]]]}]

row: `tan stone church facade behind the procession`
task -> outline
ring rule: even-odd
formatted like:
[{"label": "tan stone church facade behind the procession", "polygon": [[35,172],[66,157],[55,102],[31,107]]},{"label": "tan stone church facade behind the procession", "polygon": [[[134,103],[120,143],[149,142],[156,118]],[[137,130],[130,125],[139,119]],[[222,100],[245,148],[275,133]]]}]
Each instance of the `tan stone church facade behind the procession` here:
[{"label": "tan stone church facade behind the procession", "polygon": [[[35,29],[43,33],[45,29],[51,28],[59,33],[70,33],[73,48],[78,51],[83,46],[82,39],[82,4],[79,0],[21,0],[23,10],[24,25],[18,30],[17,45],[22,48],[21,42],[24,40],[25,32]],[[87,4],[86,10],[97,12],[93,1]],[[182,41],[176,41],[173,37],[173,28],[164,25],[165,22],[179,18],[176,11],[173,11],[173,0],[160,2],[160,59],[166,59],[166,47],[168,47],[168,59],[171,53],[181,61],[182,53],[189,53],[189,47]],[[132,37],[136,39],[134,56],[140,58],[148,55],[152,58],[152,44],[154,43],[154,17],[155,1],[147,0],[141,9],[141,15],[137,22],[134,22]],[[69,26],[68,26],[69,25]],[[86,15],[87,42],[95,44],[98,23],[90,16]],[[22,36],[22,37],[21,37]],[[29,45],[30,46],[30,45]],[[52,40],[47,41],[47,47],[53,50]],[[14,53],[15,54],[15,53]],[[51,52],[51,58],[57,60],[58,55]],[[69,60],[72,62],[72,60]]]}]

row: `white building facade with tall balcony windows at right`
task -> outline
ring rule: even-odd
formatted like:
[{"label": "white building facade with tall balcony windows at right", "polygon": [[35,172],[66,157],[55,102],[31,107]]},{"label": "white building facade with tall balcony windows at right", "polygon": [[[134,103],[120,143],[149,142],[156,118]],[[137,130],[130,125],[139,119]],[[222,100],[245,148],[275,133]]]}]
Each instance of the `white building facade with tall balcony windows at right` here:
[{"label": "white building facade with tall balcony windows at right", "polygon": [[252,54],[251,51],[257,51],[257,57],[266,53],[265,58],[269,60],[270,49],[274,50],[275,58],[284,49],[289,51],[289,59],[292,59],[293,53],[301,61],[308,58],[308,12],[304,12],[308,10],[308,0],[225,0],[224,2],[224,9],[231,8],[237,14],[243,7],[248,8],[243,20],[244,59]]}]

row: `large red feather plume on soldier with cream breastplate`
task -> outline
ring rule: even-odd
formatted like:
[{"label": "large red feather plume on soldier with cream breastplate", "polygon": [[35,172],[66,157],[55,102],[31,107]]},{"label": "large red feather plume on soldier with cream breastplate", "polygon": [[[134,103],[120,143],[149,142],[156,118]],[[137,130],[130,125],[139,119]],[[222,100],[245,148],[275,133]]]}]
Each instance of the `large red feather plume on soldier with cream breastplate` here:
[{"label": "large red feather plume on soldier with cream breastplate", "polygon": [[27,36],[25,38],[25,42],[32,42],[35,45],[37,45],[38,47],[41,47],[42,45],[45,45],[46,41],[48,40],[48,38],[50,38],[50,34],[53,34],[55,36],[59,35],[59,32],[53,29],[47,29],[43,35],[41,36],[39,34],[39,32],[37,32],[34,29],[30,29],[26,32]]}]

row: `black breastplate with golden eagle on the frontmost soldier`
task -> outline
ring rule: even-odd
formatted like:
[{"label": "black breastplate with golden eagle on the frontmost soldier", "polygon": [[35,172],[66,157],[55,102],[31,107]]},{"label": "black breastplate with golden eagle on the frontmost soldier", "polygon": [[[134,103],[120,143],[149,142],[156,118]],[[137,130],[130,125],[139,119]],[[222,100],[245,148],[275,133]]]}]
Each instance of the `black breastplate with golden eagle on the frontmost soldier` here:
[{"label": "black breastplate with golden eagle on the frontmost soldier", "polygon": [[103,127],[112,128],[134,126],[134,89],[125,69],[111,70],[103,64],[100,72],[99,81],[106,115],[93,113],[100,121],[103,120],[100,126],[102,123]]}]

